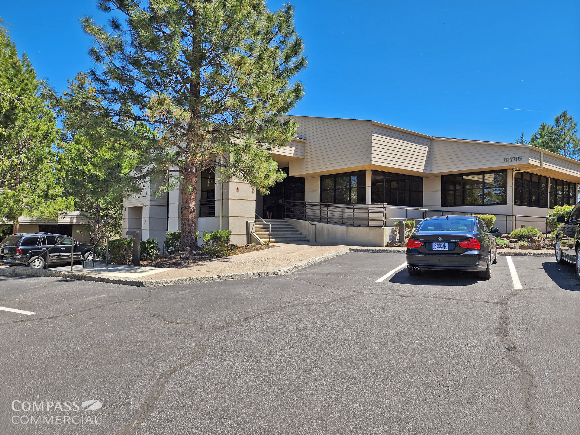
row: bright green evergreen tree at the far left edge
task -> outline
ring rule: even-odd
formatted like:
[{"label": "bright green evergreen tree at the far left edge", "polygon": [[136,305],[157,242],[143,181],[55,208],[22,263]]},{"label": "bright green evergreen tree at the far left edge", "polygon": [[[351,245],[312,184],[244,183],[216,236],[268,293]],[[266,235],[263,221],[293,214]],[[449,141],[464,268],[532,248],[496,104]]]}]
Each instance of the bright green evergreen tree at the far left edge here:
[{"label": "bright green evergreen tree at the far left edge", "polygon": [[73,209],[71,198],[63,198],[55,183],[56,121],[39,95],[40,84],[28,57],[24,53],[18,57],[2,27],[0,222],[12,222],[14,233],[20,216],[56,219],[60,212]]}]

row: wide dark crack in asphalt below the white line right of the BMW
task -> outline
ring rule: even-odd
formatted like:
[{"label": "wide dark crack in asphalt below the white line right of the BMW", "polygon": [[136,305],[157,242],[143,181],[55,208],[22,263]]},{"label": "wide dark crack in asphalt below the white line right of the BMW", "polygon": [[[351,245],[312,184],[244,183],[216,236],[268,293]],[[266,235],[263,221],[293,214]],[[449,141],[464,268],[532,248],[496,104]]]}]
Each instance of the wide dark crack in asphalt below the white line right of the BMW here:
[{"label": "wide dark crack in asphalt below the white line right of the BMW", "polygon": [[523,412],[524,434],[535,435],[538,433],[535,418],[538,382],[530,365],[519,357],[518,352],[520,349],[509,334],[509,302],[510,299],[519,294],[520,290],[514,290],[502,298],[501,308],[499,309],[499,324],[495,335],[498,336],[502,345],[506,348],[507,359],[521,371],[521,409]]}]

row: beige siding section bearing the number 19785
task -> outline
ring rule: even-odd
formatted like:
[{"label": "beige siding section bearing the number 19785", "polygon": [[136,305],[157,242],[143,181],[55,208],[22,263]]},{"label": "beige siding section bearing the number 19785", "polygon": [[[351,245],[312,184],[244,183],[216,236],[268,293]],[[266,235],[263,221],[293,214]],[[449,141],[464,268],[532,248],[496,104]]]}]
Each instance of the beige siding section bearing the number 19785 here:
[{"label": "beige siding section bearing the number 19785", "polygon": [[[509,145],[433,140],[432,172],[467,172],[481,168],[515,167],[530,162],[528,148]],[[503,162],[506,157],[520,156],[517,162]]]}]

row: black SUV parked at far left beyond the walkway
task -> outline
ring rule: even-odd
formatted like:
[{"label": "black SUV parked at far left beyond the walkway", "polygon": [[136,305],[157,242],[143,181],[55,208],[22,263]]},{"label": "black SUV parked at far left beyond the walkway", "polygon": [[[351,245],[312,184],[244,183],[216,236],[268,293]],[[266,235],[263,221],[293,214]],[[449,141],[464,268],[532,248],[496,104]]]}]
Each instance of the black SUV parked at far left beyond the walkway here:
[{"label": "black SUV parked at far left beyond the walkway", "polygon": [[[50,233],[18,233],[0,242],[0,261],[8,266],[30,266],[43,269],[48,264],[70,263],[71,244],[73,260],[92,260],[93,245],[77,242],[70,235]],[[54,248],[50,249],[53,245]],[[47,252],[48,251],[48,252]]]}]

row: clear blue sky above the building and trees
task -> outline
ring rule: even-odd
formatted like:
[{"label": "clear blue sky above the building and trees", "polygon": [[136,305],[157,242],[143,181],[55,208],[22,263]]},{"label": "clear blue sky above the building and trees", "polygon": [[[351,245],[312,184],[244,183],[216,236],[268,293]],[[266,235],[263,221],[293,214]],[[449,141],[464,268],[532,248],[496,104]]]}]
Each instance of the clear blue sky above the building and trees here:
[{"label": "clear blue sky above the building and trees", "polygon": [[[91,66],[78,19],[104,22],[95,4],[4,2],[0,16],[37,74],[62,90]],[[292,4],[309,59],[293,114],[499,142],[529,138],[562,110],[580,118],[577,0]]]}]

